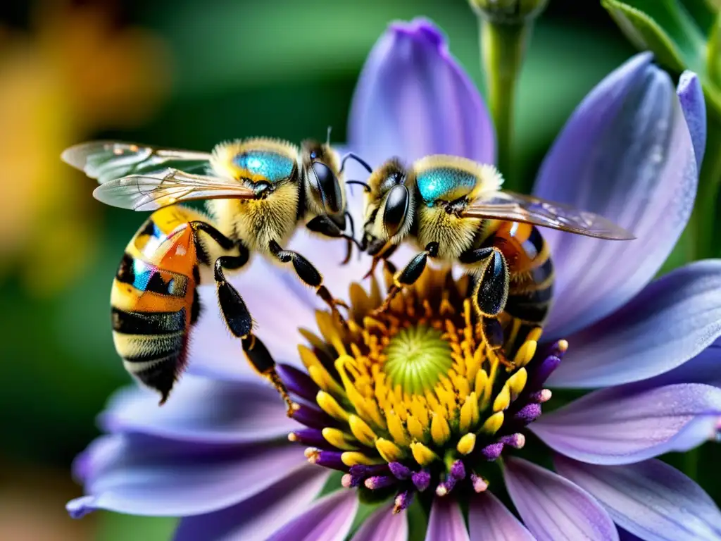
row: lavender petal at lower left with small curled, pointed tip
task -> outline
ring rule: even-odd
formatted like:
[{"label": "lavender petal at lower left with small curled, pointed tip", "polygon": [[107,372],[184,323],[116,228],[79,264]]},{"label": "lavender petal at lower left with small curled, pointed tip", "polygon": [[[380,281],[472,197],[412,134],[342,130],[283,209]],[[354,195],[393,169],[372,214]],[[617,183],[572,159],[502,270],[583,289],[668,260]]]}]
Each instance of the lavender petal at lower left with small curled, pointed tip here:
[{"label": "lavender petal at lower left with small curled, pointed tip", "polygon": [[190,516],[232,506],[301,468],[294,445],[204,444],[143,434],[96,441],[76,461],[88,496],[68,503],[72,516],[95,509]]}]

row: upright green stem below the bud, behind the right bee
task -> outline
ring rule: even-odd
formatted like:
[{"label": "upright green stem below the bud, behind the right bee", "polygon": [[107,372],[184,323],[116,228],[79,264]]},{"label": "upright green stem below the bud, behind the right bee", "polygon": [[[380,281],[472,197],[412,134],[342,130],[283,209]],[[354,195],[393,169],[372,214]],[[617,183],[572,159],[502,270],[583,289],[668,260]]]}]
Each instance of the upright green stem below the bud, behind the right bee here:
[{"label": "upright green stem below the bud, behind the right bee", "polygon": [[512,177],[513,109],[523,54],[531,35],[531,22],[500,24],[480,18],[482,68],[488,87],[488,105],[495,123],[498,169]]}]

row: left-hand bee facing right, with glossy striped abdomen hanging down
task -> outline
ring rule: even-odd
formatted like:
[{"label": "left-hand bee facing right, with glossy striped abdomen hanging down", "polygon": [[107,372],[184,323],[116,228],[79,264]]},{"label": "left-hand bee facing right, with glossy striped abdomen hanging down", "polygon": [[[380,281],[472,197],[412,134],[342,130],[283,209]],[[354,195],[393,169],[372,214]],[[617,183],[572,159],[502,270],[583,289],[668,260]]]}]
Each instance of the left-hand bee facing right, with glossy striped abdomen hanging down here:
[{"label": "left-hand bee facing right, with glossy striped abdomen hanging down", "polygon": [[[321,273],[283,248],[300,224],[326,237],[345,234],[342,160],[329,142],[251,138],[216,145],[211,153],[156,149],[115,141],[79,144],[63,161],[97,179],[93,195],[112,206],[155,211],[131,239],[112,286],[115,348],[125,369],[161,395],[163,404],[185,369],[187,342],[200,313],[197,286],[216,283],[222,319],[240,338],[250,364],[285,387],[267,348],[252,333],[242,296],[226,280],[258,252],[293,266],[298,278],[337,313]],[[208,200],[208,215],[176,203]],[[350,222],[353,229],[352,221]],[[348,259],[346,258],[346,260]]]}]

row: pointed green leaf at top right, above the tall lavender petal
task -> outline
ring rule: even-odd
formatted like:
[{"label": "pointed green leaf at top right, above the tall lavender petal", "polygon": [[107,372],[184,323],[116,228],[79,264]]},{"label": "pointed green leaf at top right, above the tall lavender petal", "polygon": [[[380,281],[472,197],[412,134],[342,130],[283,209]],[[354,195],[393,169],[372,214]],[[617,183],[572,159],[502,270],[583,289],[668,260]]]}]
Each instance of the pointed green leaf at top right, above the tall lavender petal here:
[{"label": "pointed green leaf at top right, above the tall lavender petal", "polygon": [[658,62],[674,71],[684,70],[684,59],[676,43],[644,12],[617,0],[602,0],[626,37],[641,50],[652,50]]}]

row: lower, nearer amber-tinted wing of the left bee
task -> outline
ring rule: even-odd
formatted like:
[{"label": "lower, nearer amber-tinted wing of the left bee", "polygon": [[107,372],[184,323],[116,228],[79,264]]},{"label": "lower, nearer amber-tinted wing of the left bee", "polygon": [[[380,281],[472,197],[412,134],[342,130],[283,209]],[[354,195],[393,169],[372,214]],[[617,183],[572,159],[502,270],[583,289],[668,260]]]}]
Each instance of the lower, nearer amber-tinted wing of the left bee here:
[{"label": "lower, nearer amber-tinted wing of the left bee", "polygon": [[198,199],[252,199],[253,190],[236,180],[166,169],[157,175],[129,175],[99,185],[94,197],[111,206],[155,211]]}]

